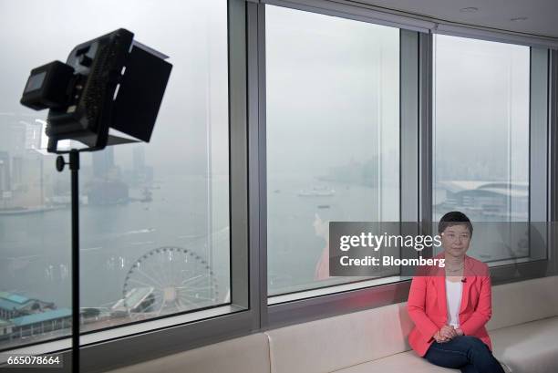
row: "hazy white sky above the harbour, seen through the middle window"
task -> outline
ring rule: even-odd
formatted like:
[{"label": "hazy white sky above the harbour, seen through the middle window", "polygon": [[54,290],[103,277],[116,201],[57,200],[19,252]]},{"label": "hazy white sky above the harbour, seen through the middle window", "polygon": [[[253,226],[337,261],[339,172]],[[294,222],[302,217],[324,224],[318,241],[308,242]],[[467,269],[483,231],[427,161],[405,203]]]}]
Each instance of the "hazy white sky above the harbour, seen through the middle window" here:
[{"label": "hazy white sky above the harbour, seen through the middle window", "polygon": [[393,27],[267,8],[270,175],[320,175],[380,152],[397,172],[398,39]]}]

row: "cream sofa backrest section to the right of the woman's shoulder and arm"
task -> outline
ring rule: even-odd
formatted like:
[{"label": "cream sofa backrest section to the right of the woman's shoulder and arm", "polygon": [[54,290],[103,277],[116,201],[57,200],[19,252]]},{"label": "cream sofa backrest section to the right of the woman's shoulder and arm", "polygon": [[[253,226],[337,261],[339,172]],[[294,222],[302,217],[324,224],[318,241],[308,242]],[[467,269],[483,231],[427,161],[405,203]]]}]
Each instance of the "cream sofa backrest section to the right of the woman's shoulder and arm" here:
[{"label": "cream sofa backrest section to the right of the woman's shoulder and arm", "polygon": [[493,286],[488,330],[558,316],[557,288],[558,276]]}]

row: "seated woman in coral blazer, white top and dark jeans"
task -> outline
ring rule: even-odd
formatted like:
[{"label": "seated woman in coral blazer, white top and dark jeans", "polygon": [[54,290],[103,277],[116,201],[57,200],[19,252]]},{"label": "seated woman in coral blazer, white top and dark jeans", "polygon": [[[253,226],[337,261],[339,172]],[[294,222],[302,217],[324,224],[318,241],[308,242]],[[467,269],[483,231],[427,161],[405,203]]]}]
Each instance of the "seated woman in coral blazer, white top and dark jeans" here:
[{"label": "seated woman in coral blazer, white top and dark jeans", "polygon": [[446,213],[438,225],[443,268],[413,277],[408,315],[415,327],[409,345],[419,356],[463,373],[504,373],[492,356],[485,324],[491,318],[488,266],[465,253],[473,228],[462,212]]}]

